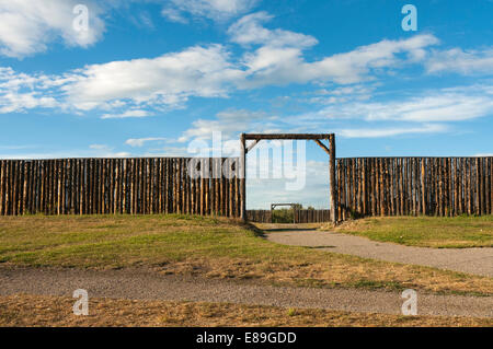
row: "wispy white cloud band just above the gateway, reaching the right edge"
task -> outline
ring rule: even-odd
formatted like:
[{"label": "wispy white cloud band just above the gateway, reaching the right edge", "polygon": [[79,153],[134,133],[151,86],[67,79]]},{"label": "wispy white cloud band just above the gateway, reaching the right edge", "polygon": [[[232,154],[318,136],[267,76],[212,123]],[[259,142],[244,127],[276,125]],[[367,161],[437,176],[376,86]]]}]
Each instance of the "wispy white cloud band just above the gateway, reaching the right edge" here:
[{"label": "wispy white cloud band just above the gateway, reaching the right edge", "polygon": [[[362,91],[365,89],[359,85],[354,85],[354,89],[319,90],[317,93],[323,96],[334,94],[339,97],[347,93],[348,97],[319,110],[278,118],[276,126],[285,132],[296,128],[301,132],[332,129],[347,138],[383,138],[450,132],[456,129],[450,123],[493,116],[491,85],[427,90],[414,96],[387,98],[385,102],[362,102],[358,100]],[[358,126],[348,127],[352,121]]]}]

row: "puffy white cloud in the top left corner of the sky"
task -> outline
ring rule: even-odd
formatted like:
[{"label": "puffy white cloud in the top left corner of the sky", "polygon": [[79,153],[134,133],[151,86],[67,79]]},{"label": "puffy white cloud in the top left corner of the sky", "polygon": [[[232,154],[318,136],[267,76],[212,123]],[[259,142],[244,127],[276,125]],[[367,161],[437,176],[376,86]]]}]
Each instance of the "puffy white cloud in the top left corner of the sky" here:
[{"label": "puffy white cloud in the top left corner of the sky", "polygon": [[72,26],[78,0],[0,1],[0,54],[22,58],[45,51],[48,44],[61,39],[68,46],[88,47],[104,32],[102,9],[93,1],[89,8],[88,31]]}]

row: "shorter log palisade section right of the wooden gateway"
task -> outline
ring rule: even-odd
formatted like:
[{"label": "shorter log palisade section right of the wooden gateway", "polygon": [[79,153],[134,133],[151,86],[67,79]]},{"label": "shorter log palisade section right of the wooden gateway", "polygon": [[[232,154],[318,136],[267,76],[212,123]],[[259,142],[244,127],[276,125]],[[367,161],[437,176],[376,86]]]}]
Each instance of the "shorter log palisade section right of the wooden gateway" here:
[{"label": "shorter log palisade section right of the wooden gateway", "polygon": [[491,156],[337,159],[339,218],[492,214],[492,166]]}]

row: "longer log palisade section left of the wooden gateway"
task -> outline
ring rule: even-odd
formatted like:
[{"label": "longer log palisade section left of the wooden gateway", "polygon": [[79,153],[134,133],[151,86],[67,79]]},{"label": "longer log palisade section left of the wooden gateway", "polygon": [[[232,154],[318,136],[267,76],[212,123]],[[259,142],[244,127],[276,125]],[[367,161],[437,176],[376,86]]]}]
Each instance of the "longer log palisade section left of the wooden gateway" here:
[{"label": "longer log palisade section left of the wooden gateway", "polygon": [[0,160],[0,216],[240,217],[239,158]]}]

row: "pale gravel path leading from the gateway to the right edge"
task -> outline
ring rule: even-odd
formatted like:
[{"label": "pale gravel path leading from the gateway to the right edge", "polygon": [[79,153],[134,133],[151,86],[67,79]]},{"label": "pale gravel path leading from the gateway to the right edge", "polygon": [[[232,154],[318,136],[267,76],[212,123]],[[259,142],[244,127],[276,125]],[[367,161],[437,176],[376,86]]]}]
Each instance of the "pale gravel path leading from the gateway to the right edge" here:
[{"label": "pale gravel path leading from the gateway to the right edge", "polygon": [[493,247],[426,248],[375,242],[366,237],[320,231],[278,230],[270,241],[355,255],[359,257],[429,266],[493,277]]}]

